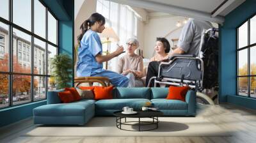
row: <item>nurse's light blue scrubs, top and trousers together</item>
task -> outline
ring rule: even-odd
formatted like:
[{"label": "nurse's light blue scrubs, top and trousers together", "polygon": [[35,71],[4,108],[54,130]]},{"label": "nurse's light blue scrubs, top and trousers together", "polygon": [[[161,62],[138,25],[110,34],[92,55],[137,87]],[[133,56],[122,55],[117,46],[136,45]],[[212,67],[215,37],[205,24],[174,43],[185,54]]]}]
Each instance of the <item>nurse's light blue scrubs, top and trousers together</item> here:
[{"label": "nurse's light blue scrubs, top and trousers together", "polygon": [[114,86],[127,87],[129,84],[127,77],[104,70],[102,63],[98,63],[95,59],[97,54],[102,54],[100,37],[89,29],[84,33],[78,48],[77,77],[108,77]]}]

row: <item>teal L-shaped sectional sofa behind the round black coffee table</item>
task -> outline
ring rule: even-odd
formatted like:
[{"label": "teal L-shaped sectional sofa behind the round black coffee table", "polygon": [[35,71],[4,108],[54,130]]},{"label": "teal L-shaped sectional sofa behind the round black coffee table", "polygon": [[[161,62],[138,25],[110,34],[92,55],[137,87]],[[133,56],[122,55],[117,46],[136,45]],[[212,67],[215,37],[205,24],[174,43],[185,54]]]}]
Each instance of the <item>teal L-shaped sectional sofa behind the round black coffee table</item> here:
[{"label": "teal L-shaped sectional sofa behind the round black coffee table", "polygon": [[140,110],[146,102],[158,107],[164,116],[195,116],[196,92],[188,91],[186,102],[166,100],[168,87],[133,87],[113,89],[110,100],[80,100],[61,103],[58,91],[49,91],[47,105],[33,109],[35,124],[86,124],[93,116],[113,116],[113,112],[128,106]]}]

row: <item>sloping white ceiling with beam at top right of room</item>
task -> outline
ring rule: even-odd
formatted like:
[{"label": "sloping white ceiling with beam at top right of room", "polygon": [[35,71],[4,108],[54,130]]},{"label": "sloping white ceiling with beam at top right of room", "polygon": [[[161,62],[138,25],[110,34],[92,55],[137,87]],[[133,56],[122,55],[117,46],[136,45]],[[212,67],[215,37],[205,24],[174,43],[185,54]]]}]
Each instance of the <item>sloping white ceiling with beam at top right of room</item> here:
[{"label": "sloping white ceiling with beam at top right of room", "polygon": [[224,17],[245,0],[228,0],[215,13],[225,0],[111,0],[116,3],[144,8],[148,13],[163,12],[183,17],[223,23]]}]

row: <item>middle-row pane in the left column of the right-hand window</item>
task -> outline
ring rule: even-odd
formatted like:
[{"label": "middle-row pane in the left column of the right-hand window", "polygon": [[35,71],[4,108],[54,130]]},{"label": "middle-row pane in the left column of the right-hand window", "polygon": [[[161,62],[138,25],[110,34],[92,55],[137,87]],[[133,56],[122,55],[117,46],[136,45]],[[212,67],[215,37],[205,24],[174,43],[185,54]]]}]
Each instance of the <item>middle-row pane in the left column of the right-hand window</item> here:
[{"label": "middle-row pane in the left column of the right-hand window", "polygon": [[248,75],[248,50],[239,50],[238,52],[238,75]]}]

